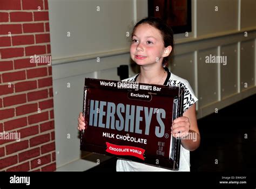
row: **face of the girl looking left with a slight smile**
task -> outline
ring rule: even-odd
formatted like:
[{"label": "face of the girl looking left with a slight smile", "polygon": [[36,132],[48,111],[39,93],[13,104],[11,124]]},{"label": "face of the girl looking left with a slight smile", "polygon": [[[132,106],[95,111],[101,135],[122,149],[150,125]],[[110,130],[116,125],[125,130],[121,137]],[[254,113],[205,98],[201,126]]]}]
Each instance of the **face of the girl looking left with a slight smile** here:
[{"label": "face of the girl looking left with a slight smile", "polygon": [[163,37],[158,29],[149,24],[137,26],[130,47],[131,59],[134,62],[140,66],[162,64],[163,57],[170,54],[166,51],[168,50],[164,47]]}]

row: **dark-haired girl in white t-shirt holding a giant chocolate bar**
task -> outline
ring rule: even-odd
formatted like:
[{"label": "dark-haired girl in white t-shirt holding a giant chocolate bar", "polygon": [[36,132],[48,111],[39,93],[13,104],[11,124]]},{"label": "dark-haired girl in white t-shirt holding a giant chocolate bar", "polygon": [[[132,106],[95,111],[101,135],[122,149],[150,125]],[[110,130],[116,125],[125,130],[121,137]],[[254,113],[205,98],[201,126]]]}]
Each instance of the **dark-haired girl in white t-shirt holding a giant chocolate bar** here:
[{"label": "dark-haired girl in white t-shirt holding a giant chocolate bar", "polygon": [[[147,17],[133,29],[130,47],[131,59],[140,66],[140,73],[125,79],[142,83],[179,86],[185,88],[183,116],[170,125],[173,137],[181,137],[179,171],[190,171],[190,151],[200,144],[196,118],[197,97],[187,80],[174,75],[166,67],[173,51],[173,32],[160,18]],[[83,114],[78,117],[78,130],[85,129]],[[87,122],[86,122],[87,124]],[[193,136],[193,137],[191,137]],[[142,163],[117,160],[117,171],[171,171]]]}]

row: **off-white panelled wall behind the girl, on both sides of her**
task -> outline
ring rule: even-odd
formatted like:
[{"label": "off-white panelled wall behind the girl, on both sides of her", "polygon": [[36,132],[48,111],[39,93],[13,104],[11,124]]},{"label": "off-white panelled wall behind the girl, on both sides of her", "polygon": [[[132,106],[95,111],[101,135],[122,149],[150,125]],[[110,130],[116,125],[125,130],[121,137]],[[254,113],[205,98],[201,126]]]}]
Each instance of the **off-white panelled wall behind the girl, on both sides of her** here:
[{"label": "off-white panelled wall behind the girl, on both sides of her", "polygon": [[[192,32],[188,37],[174,36],[171,71],[191,83],[199,99],[198,118],[256,93],[255,14],[254,0],[192,0]],[[83,156],[76,126],[83,107],[84,78],[119,80],[117,67],[131,64],[125,34],[133,20],[146,16],[147,0],[49,0],[58,170],[96,165],[78,160]],[[227,55],[227,65],[206,64],[210,54]],[[95,156],[94,161],[98,158],[105,157]]]}]

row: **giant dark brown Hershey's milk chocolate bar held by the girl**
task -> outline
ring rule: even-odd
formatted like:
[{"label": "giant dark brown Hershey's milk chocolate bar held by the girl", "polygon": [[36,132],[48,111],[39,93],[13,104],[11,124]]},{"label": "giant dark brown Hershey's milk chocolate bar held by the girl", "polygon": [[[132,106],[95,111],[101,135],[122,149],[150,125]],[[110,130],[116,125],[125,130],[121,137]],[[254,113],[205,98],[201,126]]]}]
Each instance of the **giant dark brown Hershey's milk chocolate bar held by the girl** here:
[{"label": "giant dark brown Hershey's milk chocolate bar held by the girl", "polygon": [[172,121],[183,114],[184,88],[85,79],[80,149],[179,169]]}]

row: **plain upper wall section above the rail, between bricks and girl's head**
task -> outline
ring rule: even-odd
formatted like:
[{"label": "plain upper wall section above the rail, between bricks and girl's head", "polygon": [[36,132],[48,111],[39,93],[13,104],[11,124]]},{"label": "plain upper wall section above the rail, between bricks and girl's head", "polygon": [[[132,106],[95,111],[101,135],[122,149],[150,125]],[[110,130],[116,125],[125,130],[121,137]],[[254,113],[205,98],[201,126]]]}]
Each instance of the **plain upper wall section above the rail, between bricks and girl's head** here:
[{"label": "plain upper wall section above the rail, between bricks and girl's head", "polygon": [[[132,1],[55,0],[49,4],[54,24],[51,31],[53,58],[90,55],[129,45],[126,31],[133,19]],[[70,37],[67,37],[68,32]]]}]

